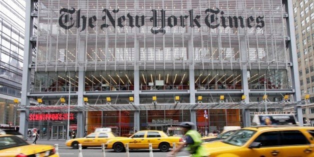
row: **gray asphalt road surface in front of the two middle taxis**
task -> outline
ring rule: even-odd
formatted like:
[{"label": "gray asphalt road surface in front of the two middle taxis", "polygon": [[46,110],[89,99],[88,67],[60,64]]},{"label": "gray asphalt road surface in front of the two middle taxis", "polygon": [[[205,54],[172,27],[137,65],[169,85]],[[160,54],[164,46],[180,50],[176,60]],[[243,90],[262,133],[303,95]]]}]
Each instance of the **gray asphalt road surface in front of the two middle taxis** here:
[{"label": "gray asphalt road surface in front of the two middle taxis", "polygon": [[[154,149],[152,151],[153,157],[166,157],[167,152],[161,152],[157,149]],[[69,157],[69,156],[78,156],[78,149],[72,149],[71,147],[66,146],[59,146],[59,155],[61,157]],[[82,155],[85,156],[91,156],[91,157],[101,157],[102,151],[101,147],[90,147],[86,149],[82,149]],[[189,154],[183,150],[179,153],[177,153],[176,156],[188,156]],[[114,152],[112,149],[105,149],[105,156],[106,157],[119,157],[119,156],[126,156],[126,152]],[[148,149],[141,149],[141,150],[129,150],[129,156],[130,157],[141,157],[141,156],[149,156],[149,150]]]}]

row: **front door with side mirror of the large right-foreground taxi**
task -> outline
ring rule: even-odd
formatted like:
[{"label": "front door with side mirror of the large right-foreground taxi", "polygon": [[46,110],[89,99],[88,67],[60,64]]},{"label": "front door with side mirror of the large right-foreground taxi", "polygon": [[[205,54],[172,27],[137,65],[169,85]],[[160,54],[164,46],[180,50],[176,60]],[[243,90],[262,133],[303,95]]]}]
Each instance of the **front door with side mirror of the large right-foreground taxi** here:
[{"label": "front door with side mirror of the large right-foreground taxi", "polygon": [[[283,157],[284,152],[280,146],[280,132],[268,131],[259,134],[253,142],[260,142],[260,147],[249,148],[245,151],[245,156],[276,156]],[[251,142],[252,143],[252,142]],[[250,143],[250,144],[251,144]]]}]

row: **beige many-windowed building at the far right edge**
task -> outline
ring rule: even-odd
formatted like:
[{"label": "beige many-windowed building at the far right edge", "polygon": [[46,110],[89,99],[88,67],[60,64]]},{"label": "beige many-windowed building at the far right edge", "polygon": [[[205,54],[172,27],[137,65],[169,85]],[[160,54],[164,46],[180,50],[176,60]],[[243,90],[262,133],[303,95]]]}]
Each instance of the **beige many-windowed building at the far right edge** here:
[{"label": "beige many-windowed building at the far right edge", "polygon": [[301,97],[310,95],[314,102],[314,6],[313,0],[294,0],[293,15]]}]

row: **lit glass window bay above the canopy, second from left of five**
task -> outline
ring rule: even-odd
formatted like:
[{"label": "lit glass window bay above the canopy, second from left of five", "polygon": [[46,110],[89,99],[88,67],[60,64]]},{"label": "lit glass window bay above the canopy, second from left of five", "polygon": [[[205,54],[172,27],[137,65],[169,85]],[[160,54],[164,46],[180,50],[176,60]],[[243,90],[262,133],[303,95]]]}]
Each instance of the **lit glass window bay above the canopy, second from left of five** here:
[{"label": "lit glass window bay above the canopy, second from left of five", "polygon": [[85,91],[134,90],[133,70],[86,71]]}]

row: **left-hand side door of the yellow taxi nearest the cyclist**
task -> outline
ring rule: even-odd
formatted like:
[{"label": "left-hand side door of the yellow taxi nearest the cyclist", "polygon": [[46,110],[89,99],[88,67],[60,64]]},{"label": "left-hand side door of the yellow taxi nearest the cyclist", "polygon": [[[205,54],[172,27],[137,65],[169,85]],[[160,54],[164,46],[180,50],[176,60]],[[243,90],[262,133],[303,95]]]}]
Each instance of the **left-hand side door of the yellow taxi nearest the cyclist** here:
[{"label": "left-hand side door of the yellow taxi nearest the cyclist", "polygon": [[[144,135],[146,131],[138,131],[135,134],[133,134],[128,141],[128,147],[130,149],[142,149],[142,148],[148,148],[148,146],[145,147],[146,143],[144,141]],[[147,143],[148,145],[148,143]]]}]

